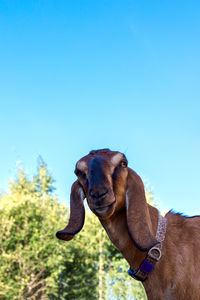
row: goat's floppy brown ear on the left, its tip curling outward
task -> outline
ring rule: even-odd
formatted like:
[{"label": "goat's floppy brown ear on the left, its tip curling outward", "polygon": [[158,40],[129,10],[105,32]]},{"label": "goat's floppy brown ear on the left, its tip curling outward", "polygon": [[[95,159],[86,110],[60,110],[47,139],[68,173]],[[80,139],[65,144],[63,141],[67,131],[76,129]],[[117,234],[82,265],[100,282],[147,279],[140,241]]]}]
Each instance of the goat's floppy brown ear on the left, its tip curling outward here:
[{"label": "goat's floppy brown ear on the left, its tip curling outward", "polygon": [[82,229],[85,220],[84,198],[83,188],[77,180],[71,188],[69,223],[63,230],[56,233],[58,239],[70,241]]}]

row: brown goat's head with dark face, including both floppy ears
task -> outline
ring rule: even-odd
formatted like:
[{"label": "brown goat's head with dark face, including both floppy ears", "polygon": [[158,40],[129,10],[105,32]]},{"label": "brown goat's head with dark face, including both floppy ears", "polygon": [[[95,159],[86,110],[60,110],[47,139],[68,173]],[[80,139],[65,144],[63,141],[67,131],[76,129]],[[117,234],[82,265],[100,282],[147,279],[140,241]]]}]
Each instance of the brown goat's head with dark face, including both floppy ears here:
[{"label": "brown goat's head with dark face, including both floppy ears", "polygon": [[75,169],[77,181],[72,185],[70,219],[67,227],[56,236],[71,240],[84,224],[84,198],[100,221],[109,221],[126,210],[130,239],[141,251],[147,251],[157,241],[141,178],[130,168],[124,154],[109,149],[91,151],[81,158]]}]

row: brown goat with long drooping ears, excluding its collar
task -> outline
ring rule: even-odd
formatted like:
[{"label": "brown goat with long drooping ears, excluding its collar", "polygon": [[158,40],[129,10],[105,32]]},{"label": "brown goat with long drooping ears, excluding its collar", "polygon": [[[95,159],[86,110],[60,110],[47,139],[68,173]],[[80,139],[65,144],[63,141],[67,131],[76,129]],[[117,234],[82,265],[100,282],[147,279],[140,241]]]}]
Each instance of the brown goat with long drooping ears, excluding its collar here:
[{"label": "brown goat with long drooping ears, excluding its collar", "polygon": [[[132,270],[138,269],[155,238],[158,215],[147,204],[141,178],[120,152],[91,151],[76,164],[70,220],[57,237],[69,241],[84,224],[83,200],[99,218]],[[168,212],[162,257],[143,282],[148,299],[200,299],[200,218]]]}]

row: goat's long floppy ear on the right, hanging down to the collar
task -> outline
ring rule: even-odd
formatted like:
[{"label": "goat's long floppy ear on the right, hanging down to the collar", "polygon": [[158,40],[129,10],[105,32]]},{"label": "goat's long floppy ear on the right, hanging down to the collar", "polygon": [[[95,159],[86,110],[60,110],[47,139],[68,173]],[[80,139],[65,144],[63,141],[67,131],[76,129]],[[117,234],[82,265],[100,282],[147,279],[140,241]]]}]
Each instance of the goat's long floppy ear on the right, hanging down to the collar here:
[{"label": "goat's long floppy ear on the right, hanging down to the collar", "polygon": [[127,177],[126,213],[131,240],[139,250],[148,251],[158,242],[153,237],[143,182],[131,169]]}]

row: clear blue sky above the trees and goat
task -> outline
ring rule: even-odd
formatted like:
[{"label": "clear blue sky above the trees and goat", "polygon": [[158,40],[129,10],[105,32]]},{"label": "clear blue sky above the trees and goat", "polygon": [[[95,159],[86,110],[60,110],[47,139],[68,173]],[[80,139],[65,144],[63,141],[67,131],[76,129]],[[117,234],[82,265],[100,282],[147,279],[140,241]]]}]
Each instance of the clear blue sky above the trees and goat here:
[{"label": "clear blue sky above the trees and goat", "polygon": [[61,201],[91,149],[200,213],[200,2],[1,1],[0,189],[42,155]]}]

